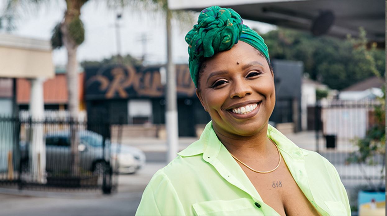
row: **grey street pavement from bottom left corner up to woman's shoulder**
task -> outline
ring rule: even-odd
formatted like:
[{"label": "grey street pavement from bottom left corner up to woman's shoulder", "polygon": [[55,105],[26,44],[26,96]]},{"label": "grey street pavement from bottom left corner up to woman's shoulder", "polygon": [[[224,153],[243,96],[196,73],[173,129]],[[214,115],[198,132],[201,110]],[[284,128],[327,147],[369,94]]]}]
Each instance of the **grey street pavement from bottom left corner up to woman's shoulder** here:
[{"label": "grey street pavement from bottom left corner up to woman's shoulder", "polygon": [[137,173],[120,175],[118,192],[19,191],[0,188],[0,216],[131,216],[152,175],[165,163],[147,163]]}]

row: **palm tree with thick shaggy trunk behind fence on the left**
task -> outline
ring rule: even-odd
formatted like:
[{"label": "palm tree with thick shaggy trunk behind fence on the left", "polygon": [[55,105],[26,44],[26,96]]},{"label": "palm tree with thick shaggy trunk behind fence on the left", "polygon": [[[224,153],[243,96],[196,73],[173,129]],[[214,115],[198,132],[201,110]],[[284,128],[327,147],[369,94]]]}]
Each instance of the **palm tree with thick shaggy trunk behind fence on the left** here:
[{"label": "palm tree with thick shaggy trunk behind fence on the left", "polygon": [[[62,22],[55,26],[51,43],[53,48],[60,48],[65,46],[67,50],[67,91],[68,91],[68,111],[70,113],[71,121],[77,119],[79,101],[78,101],[78,62],[77,49],[84,41],[84,27],[82,20],[80,20],[80,12],[82,6],[89,0],[65,0],[66,10]],[[5,7],[5,14],[15,15],[19,7],[26,5],[40,5],[48,3],[47,0],[8,0]],[[72,151],[72,173],[78,173],[79,154],[78,142],[76,136],[76,126],[70,124],[70,139]]]}]

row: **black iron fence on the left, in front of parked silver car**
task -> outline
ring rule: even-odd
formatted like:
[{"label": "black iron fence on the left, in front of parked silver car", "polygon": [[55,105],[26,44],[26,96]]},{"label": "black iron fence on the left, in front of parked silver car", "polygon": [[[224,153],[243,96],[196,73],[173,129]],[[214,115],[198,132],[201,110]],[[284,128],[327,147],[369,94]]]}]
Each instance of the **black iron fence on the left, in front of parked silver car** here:
[{"label": "black iron fence on the left, in front of parked silver car", "polygon": [[102,120],[0,117],[0,186],[111,193],[120,128]]}]

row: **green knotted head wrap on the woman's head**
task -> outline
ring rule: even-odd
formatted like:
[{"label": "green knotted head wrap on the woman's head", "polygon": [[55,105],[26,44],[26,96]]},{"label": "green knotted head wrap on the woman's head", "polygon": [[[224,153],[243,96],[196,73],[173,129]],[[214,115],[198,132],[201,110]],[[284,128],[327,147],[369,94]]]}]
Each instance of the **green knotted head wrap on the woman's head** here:
[{"label": "green knotted head wrap on the woman's head", "polygon": [[188,66],[197,87],[197,74],[204,58],[231,49],[238,41],[250,44],[270,62],[264,39],[243,24],[238,13],[230,8],[208,7],[200,12],[197,24],[185,36],[188,43]]}]

